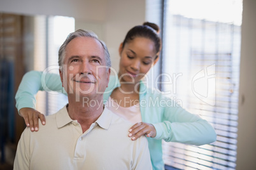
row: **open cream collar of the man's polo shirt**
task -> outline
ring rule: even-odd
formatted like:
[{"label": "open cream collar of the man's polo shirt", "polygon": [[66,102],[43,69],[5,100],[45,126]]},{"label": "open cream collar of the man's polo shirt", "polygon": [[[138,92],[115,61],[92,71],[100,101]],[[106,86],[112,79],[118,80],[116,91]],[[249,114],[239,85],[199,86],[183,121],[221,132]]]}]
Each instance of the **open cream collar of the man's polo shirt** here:
[{"label": "open cream collar of the man's polo shirt", "polygon": [[[103,113],[99,116],[96,123],[103,129],[108,129],[111,124],[112,119],[112,113],[108,108],[104,107]],[[59,110],[56,114],[56,122],[57,122],[57,128],[62,128],[63,126],[66,126],[66,124],[69,124],[72,122],[72,120],[69,117],[67,105]]]}]

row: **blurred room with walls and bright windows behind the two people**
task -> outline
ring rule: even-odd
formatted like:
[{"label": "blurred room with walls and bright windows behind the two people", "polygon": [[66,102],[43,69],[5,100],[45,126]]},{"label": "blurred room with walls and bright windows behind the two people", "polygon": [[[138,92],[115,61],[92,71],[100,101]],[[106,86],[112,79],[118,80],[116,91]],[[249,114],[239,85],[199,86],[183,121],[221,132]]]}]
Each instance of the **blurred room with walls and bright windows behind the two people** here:
[{"label": "blurred room with walls and bright windows behind the two people", "polygon": [[[118,72],[120,43],[146,21],[159,25],[163,42],[148,86],[206,119],[218,134],[200,147],[163,141],[166,169],[256,169],[255,16],[254,0],[0,0],[0,169],[12,169],[25,128],[14,98],[25,72],[58,74],[59,47],[77,29],[106,42]],[[68,102],[43,91],[36,99],[45,115]]]}]

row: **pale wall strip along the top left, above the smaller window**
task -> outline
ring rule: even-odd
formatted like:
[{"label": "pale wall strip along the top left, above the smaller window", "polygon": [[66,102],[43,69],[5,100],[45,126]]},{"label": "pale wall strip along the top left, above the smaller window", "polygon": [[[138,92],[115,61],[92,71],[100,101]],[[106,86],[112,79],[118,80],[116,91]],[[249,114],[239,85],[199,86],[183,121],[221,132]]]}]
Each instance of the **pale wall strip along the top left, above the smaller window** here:
[{"label": "pale wall strip along the top left, above the smaller window", "polygon": [[1,0],[0,11],[23,15],[73,16],[83,20],[103,21],[106,18],[104,0]]}]

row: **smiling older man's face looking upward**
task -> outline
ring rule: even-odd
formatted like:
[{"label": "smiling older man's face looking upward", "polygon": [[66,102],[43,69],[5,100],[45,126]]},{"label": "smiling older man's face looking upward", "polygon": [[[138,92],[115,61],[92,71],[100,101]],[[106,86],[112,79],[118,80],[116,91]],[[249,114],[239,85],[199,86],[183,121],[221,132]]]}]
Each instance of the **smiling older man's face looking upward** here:
[{"label": "smiling older man's face looking upward", "polygon": [[69,97],[75,96],[77,101],[102,96],[110,77],[103,50],[101,43],[90,37],[76,37],[69,42],[63,72],[60,71],[62,86]]}]

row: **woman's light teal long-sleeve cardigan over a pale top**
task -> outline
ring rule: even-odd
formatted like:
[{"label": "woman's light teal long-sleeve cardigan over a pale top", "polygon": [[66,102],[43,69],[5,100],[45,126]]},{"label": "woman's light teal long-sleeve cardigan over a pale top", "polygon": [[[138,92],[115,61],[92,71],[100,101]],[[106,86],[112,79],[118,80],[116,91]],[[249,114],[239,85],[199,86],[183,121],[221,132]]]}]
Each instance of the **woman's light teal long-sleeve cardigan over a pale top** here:
[{"label": "woman's light teal long-sleeve cardigan over a pale top", "polygon": [[[111,75],[103,96],[104,101],[108,100],[113,89],[118,86],[120,86],[118,77]],[[35,108],[35,95],[39,90],[66,94],[59,75],[43,74],[37,71],[27,72],[15,96],[17,109]],[[215,129],[207,121],[190,114],[157,89],[146,87],[143,81],[139,84],[139,102],[142,121],[153,124],[157,131],[155,138],[147,138],[153,169],[164,169],[162,140],[188,145],[204,145],[216,141]]]}]

